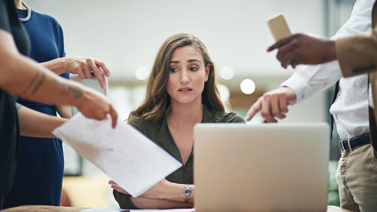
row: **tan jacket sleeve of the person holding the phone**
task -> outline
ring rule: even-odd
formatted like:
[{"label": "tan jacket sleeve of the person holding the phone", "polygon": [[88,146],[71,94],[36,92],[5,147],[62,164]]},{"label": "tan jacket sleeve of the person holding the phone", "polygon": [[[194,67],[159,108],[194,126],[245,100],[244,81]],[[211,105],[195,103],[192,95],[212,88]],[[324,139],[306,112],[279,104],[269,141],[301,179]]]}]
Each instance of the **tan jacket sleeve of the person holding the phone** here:
[{"label": "tan jacket sleeve of the person holding the phone", "polygon": [[374,2],[371,34],[369,36],[356,35],[336,40],[336,55],[344,77],[376,71],[376,27],[376,2]]}]

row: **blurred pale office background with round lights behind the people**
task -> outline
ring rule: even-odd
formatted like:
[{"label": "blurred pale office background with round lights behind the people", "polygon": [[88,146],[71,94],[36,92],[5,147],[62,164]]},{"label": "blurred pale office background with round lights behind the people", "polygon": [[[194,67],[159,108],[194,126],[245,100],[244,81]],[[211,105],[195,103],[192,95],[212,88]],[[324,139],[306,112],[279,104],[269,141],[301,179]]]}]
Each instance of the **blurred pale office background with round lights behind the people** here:
[{"label": "blurred pale office background with round lights behind the people", "polygon": [[[274,43],[268,18],[281,12],[293,34],[331,37],[350,17],[354,2],[25,0],[32,10],[57,19],[63,28],[67,56],[94,57],[106,62],[112,73],[109,98],[122,120],[143,101],[155,55],[170,35],[186,32],[203,41],[217,68],[222,100],[230,101],[228,111],[245,117],[258,97],[279,87],[295,71],[281,68],[276,51],[266,52]],[[329,123],[332,97],[333,87],[317,93],[290,106],[287,118],[280,122]],[[257,114],[249,124],[261,121]],[[333,205],[339,204],[334,179],[340,157],[338,141],[334,131],[329,143],[329,204]],[[118,207],[106,175],[66,145],[64,158],[63,189],[72,206]]]}]

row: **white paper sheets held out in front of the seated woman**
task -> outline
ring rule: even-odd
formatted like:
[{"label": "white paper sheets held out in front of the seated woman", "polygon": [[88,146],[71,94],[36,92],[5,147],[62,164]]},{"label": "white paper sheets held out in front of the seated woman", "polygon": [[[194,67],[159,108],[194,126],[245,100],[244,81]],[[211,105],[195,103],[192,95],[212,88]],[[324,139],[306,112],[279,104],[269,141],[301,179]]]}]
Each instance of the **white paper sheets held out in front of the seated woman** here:
[{"label": "white paper sheets held out in front of the seated woman", "polygon": [[176,158],[121,120],[112,129],[110,118],[97,121],[78,113],[52,134],[133,197],[143,194],[182,166]]}]

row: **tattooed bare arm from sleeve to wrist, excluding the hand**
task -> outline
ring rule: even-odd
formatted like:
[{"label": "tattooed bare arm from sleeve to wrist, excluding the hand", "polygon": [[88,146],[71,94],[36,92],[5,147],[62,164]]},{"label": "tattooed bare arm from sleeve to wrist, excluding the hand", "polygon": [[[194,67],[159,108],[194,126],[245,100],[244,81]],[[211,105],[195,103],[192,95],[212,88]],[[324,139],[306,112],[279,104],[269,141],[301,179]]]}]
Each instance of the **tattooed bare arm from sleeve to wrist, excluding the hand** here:
[{"label": "tattooed bare arm from sleeve to wrist, excluding the hand", "polygon": [[[21,55],[12,35],[0,29],[0,89],[21,98],[52,104],[79,103],[84,90]],[[82,100],[84,101],[84,100]]]}]

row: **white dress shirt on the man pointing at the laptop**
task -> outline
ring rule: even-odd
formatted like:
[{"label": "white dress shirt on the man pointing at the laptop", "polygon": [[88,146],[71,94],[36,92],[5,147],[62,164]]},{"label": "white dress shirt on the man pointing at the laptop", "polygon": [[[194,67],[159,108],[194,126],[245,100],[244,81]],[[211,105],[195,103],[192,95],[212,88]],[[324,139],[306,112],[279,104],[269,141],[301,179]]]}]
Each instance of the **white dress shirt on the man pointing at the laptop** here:
[{"label": "white dress shirt on the man pointing at the laptop", "polygon": [[[372,24],[374,0],[357,0],[349,20],[331,37],[336,40],[354,34],[369,35]],[[343,78],[337,60],[320,65],[306,65],[295,72],[280,86],[287,86],[296,93],[299,103],[312,94],[339,81],[339,92],[330,108],[341,139],[369,132],[368,75]],[[293,103],[293,104],[294,104]]]}]

